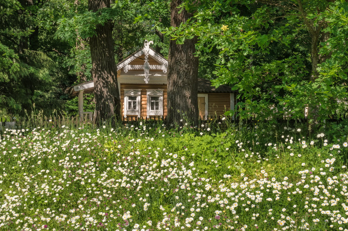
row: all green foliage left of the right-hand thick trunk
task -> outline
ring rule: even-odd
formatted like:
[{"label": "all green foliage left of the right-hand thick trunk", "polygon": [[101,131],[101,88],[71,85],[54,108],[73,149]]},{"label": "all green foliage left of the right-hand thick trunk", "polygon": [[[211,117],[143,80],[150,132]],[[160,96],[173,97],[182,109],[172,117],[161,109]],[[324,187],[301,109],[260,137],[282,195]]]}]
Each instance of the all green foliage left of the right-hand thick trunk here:
[{"label": "all green foliage left of the right-hand thick trunk", "polygon": [[0,107],[9,113],[24,115],[24,110],[30,113],[36,107],[50,114],[63,108],[67,87],[91,80],[89,36],[97,23],[115,22],[117,60],[139,49],[145,39],[155,40],[167,54],[167,45],[154,36],[150,18],[134,23],[150,7],[165,25],[162,1],[116,1],[111,9],[97,13],[88,12],[87,0],[23,2],[0,1]]}]

